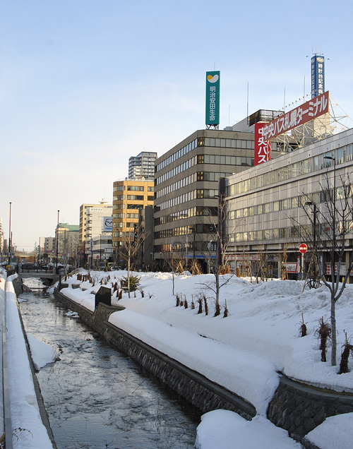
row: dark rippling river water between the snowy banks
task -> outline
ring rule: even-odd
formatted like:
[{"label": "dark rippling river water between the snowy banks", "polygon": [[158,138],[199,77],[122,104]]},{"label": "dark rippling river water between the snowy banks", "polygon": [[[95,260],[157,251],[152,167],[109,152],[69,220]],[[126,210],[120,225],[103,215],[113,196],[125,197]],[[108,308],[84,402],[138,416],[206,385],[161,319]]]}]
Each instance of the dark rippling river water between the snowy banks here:
[{"label": "dark rippling river water between the snowy banks", "polygon": [[[36,280],[37,287],[41,282]],[[200,414],[42,289],[20,295],[26,332],[60,361],[37,373],[58,449],[193,448]]]}]

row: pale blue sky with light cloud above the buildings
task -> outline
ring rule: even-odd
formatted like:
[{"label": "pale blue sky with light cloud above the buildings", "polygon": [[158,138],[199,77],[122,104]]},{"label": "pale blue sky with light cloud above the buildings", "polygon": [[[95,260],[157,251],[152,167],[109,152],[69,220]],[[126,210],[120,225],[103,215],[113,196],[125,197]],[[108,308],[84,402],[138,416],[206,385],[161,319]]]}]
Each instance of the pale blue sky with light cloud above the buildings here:
[{"label": "pale blue sky with light cloud above the buildings", "polygon": [[[205,128],[220,70],[220,129],[309,94],[310,58],[352,115],[353,6],[337,0],[0,2],[0,218],[31,251],[83,203],[112,203],[128,158]],[[306,57],[309,56],[309,57]],[[305,79],[305,83],[304,83]],[[309,98],[309,97],[308,97]]]}]

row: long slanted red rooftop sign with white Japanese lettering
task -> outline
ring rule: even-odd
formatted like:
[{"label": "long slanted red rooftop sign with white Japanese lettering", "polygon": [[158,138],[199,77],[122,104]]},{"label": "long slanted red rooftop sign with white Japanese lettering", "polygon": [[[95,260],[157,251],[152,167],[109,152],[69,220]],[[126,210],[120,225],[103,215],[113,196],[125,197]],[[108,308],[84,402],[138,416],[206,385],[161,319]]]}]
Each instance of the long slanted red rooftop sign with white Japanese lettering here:
[{"label": "long slanted red rooftop sign with white Japanese lettering", "polygon": [[327,91],[268,122],[263,127],[263,138],[270,140],[296,128],[296,126],[303,125],[310,120],[316,119],[318,116],[326,114],[328,112],[328,100],[329,92]]}]

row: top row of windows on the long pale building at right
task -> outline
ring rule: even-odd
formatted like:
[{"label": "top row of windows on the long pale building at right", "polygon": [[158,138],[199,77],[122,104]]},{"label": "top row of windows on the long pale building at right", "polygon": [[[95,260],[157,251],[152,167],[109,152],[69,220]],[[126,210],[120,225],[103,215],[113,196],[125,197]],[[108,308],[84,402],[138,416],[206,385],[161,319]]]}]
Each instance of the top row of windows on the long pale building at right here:
[{"label": "top row of windows on the long pale building at right", "polygon": [[[328,157],[330,159],[328,159]],[[323,155],[309,157],[306,160],[289,164],[287,167],[281,167],[271,172],[254,176],[246,181],[240,181],[227,187],[227,196],[245,193],[255,188],[270,186],[277,182],[293,179],[297,176],[317,172],[321,169],[332,167],[333,164],[342,164],[343,162],[353,160],[353,145],[346,145],[337,148],[334,151],[328,151]]]}]

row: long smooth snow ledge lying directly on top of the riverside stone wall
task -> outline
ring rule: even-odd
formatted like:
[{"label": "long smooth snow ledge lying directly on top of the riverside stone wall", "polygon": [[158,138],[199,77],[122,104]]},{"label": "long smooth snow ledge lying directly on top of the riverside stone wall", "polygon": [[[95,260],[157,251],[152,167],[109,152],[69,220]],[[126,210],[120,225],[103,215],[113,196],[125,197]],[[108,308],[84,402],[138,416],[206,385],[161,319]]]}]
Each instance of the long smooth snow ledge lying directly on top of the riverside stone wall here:
[{"label": "long smooth snow ledge lying directly on top of the riverside stone wall", "polygon": [[267,360],[128,310],[112,313],[109,323],[233,391],[265,414],[279,383],[275,367]]}]

